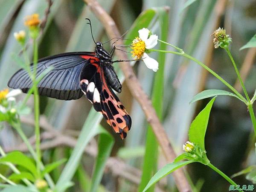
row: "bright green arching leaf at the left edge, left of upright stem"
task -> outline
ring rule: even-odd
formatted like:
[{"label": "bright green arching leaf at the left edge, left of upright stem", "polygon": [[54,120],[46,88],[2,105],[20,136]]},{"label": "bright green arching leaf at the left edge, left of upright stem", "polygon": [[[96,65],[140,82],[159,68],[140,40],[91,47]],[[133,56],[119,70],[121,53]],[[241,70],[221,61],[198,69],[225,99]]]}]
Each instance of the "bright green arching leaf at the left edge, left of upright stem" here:
[{"label": "bright green arching leaf at the left edge, left of upright stem", "polygon": [[29,170],[35,177],[38,176],[35,164],[29,157],[21,153],[20,151],[13,151],[6,154],[5,157],[0,158],[0,163],[13,163],[22,166]]}]

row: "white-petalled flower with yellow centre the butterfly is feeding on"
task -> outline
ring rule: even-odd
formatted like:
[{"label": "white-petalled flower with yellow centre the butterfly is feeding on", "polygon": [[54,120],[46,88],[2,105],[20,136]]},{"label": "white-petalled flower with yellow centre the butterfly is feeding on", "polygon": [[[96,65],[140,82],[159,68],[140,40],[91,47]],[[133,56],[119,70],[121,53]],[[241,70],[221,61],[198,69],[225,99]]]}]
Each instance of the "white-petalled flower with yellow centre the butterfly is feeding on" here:
[{"label": "white-petalled flower with yellow centre the butterfly is feeding on", "polygon": [[145,51],[148,49],[152,49],[157,45],[158,36],[150,35],[148,38],[150,31],[146,28],[140,29],[138,32],[139,37],[135,38],[132,42],[132,56],[137,57],[137,59],[142,58],[148,69],[156,72],[158,70],[158,62],[153,58],[149,57],[148,54],[145,53]]}]

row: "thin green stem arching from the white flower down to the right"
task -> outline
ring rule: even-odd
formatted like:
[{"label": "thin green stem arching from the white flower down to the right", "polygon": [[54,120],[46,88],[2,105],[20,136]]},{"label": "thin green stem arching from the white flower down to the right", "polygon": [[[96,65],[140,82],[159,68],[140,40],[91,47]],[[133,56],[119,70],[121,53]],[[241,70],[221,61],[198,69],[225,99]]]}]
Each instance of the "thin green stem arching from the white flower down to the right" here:
[{"label": "thin green stem arching from the white flower down to the right", "polygon": [[204,67],[204,69],[209,71],[209,73],[211,73],[213,76],[215,76],[218,80],[220,80],[223,84],[225,84],[228,88],[230,88],[230,90],[232,90],[247,105],[247,100],[234,87],[232,87],[227,81],[222,79],[221,76],[219,76],[217,73],[215,73],[209,67],[207,67],[201,61],[198,61],[196,58],[194,58],[194,57],[192,57],[192,56],[190,56],[190,55],[188,55],[186,53],[180,53],[180,52],[175,52],[175,51],[165,51],[165,50],[158,50],[158,49],[150,49],[150,51],[154,51],[154,52],[167,52],[167,53],[172,53],[172,54],[175,54],[175,55],[182,55],[183,57],[186,57],[186,58],[191,59],[192,61],[195,61],[197,64],[199,64],[202,67]]}]

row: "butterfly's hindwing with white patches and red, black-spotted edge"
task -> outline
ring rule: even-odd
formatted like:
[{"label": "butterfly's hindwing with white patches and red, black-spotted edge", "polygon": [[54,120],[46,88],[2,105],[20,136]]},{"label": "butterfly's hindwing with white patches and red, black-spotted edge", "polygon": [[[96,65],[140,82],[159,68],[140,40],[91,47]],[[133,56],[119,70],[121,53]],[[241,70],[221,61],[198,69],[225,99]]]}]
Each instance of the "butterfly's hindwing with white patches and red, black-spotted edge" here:
[{"label": "butterfly's hindwing with white patches and red, black-spotted edge", "polygon": [[[124,139],[131,128],[131,117],[108,85],[98,58],[91,58],[89,61],[90,64],[81,70],[81,90],[92,102],[95,110],[102,113],[113,130]],[[89,69],[90,74],[87,73]]]}]

